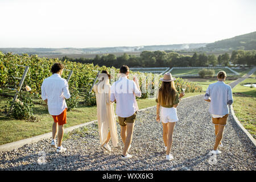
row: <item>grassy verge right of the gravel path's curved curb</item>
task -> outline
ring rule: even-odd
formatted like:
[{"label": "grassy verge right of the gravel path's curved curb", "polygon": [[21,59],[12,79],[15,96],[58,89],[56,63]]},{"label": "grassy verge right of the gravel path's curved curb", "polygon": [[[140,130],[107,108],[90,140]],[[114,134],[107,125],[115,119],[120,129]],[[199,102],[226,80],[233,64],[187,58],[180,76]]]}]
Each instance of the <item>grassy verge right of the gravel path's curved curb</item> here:
[{"label": "grassy verge right of the gravel path's curved curb", "polygon": [[233,109],[243,127],[256,139],[256,88],[243,86],[256,83],[255,74],[233,88]]}]

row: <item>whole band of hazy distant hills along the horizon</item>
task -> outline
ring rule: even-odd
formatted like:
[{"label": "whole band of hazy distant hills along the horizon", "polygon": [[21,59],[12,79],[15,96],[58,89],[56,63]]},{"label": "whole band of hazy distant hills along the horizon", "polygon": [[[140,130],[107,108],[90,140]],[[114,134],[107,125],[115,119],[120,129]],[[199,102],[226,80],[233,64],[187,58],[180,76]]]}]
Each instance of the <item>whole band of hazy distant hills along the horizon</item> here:
[{"label": "whole band of hazy distant hills along the horizon", "polygon": [[[232,50],[256,49],[256,32],[235,36],[234,38],[219,40],[214,43],[199,43],[199,44],[170,44],[162,46],[135,46],[135,47],[101,47],[101,48],[0,48],[3,53],[13,52],[21,55],[38,55],[41,57],[61,57],[61,56],[89,56],[102,55],[105,53],[140,53],[142,51],[181,51],[181,52],[230,52]],[[92,55],[92,56],[90,56]]]}]

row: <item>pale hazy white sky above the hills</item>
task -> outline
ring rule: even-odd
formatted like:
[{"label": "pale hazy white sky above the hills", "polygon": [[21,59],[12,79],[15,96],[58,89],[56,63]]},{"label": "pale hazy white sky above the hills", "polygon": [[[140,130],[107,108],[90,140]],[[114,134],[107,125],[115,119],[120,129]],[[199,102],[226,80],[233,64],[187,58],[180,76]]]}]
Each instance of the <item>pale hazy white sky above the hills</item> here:
[{"label": "pale hazy white sky above the hills", "polygon": [[210,43],[256,31],[255,0],[0,0],[0,47]]}]

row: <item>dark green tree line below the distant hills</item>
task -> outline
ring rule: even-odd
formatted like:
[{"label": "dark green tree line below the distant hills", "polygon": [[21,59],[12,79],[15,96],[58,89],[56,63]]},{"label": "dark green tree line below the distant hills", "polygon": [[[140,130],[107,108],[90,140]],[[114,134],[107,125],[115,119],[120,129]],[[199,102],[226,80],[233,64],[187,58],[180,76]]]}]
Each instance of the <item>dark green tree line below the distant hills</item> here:
[{"label": "dark green tree line below the distant hills", "polygon": [[81,57],[73,59],[64,56],[62,60],[75,61],[79,63],[93,63],[100,67],[115,67],[120,68],[121,65],[126,64],[129,67],[207,67],[209,65],[216,66],[230,66],[232,64],[240,65],[256,65],[256,51],[233,51],[230,56],[229,53],[224,53],[216,57],[214,54],[207,55],[205,53],[193,53],[193,55],[180,55],[177,52],[166,51],[143,51],[140,56],[128,55],[123,53],[122,56],[115,56],[112,53],[106,55],[96,55],[94,59]]}]

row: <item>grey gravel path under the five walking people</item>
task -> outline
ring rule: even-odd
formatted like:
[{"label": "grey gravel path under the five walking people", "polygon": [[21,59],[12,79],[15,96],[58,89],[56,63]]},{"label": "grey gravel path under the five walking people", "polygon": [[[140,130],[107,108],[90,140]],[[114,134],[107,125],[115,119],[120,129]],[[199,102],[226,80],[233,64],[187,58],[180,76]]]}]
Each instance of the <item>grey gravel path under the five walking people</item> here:
[{"label": "grey gravel path under the five walking people", "polygon": [[[187,98],[177,107],[179,121],[174,130],[171,153],[174,160],[165,159],[162,125],[155,121],[156,107],[139,111],[135,121],[130,154],[121,160],[123,144],[112,152],[100,148],[98,127],[91,124],[72,131],[63,146],[67,151],[56,154],[51,139],[0,152],[1,170],[255,170],[256,148],[238,129],[232,115],[224,131],[222,154],[209,156],[214,144],[214,126],[208,112],[209,103],[203,95]],[[118,126],[118,135],[120,127]],[[110,146],[112,143],[110,142]],[[44,151],[46,164],[38,164],[39,152]],[[215,162],[215,163],[214,163]]]}]

